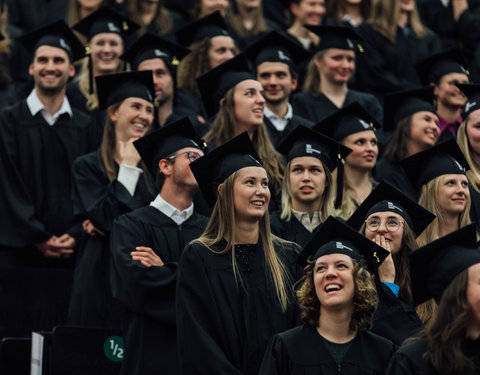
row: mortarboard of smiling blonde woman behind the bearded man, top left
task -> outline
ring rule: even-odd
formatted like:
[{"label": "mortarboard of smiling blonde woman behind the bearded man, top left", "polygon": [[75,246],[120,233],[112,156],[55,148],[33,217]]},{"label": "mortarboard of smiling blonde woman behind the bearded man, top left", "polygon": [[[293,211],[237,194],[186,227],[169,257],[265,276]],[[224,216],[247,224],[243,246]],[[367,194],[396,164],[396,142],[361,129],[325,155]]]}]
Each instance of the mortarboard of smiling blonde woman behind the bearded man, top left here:
[{"label": "mortarboard of smiling blonde woman behind the bearded man, top left", "polygon": [[114,10],[102,6],[73,26],[88,40],[100,33],[115,33],[123,38],[137,31],[140,26]]}]

